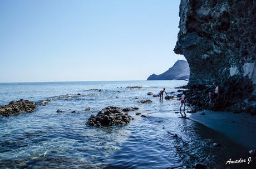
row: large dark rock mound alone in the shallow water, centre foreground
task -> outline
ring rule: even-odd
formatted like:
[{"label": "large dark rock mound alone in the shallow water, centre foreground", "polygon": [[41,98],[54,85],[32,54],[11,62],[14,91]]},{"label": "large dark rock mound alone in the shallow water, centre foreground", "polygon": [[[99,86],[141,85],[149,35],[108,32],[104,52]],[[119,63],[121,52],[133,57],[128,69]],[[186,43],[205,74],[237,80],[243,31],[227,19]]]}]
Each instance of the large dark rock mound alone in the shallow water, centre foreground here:
[{"label": "large dark rock mound alone in the shallow water, centre foreground", "polygon": [[124,126],[132,120],[130,115],[124,114],[119,107],[105,107],[96,116],[91,117],[86,122],[89,126]]}]

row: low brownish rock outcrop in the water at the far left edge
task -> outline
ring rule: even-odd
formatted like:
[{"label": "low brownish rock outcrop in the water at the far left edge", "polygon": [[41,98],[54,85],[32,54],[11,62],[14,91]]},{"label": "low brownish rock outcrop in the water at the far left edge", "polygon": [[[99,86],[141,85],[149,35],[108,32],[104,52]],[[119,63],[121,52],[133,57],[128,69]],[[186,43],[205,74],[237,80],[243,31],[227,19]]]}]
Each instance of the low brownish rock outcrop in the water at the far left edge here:
[{"label": "low brownish rock outcrop in the water at the far left edge", "polygon": [[0,106],[0,115],[18,115],[23,112],[33,112],[36,110],[37,104],[33,101],[18,100],[11,101],[8,105]]}]

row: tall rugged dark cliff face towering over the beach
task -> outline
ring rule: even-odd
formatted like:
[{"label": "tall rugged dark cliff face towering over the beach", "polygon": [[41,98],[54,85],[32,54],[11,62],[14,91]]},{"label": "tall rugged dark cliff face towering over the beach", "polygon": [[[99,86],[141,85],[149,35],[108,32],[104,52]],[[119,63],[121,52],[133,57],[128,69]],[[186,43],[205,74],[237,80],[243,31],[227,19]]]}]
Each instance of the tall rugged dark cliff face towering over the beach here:
[{"label": "tall rugged dark cliff face towering over the beach", "polygon": [[174,52],[188,60],[190,86],[230,79],[255,86],[255,0],[181,0],[179,16]]}]

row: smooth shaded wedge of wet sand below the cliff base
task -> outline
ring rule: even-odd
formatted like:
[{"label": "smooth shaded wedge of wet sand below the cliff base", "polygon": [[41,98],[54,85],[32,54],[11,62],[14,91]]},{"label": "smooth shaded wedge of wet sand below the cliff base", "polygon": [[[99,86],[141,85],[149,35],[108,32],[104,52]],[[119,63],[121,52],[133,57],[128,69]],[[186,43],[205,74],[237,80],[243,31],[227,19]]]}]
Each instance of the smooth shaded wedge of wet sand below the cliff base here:
[{"label": "smooth shaded wedge of wet sand below the cliff base", "polygon": [[[205,115],[201,115],[201,113]],[[198,111],[189,115],[191,120],[199,122],[227,136],[233,142],[255,149],[256,116],[247,113],[233,114],[232,112]],[[221,144],[221,143],[220,143]]]}]

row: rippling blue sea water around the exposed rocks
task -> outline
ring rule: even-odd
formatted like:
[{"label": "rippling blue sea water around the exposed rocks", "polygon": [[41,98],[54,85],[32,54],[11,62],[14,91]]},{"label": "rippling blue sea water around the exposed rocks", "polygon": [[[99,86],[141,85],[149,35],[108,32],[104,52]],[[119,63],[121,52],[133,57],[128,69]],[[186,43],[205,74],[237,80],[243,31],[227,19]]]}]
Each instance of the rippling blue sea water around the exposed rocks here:
[{"label": "rippling blue sea water around the exposed rocks", "polygon": [[[241,168],[225,163],[229,158],[245,157],[246,148],[198,122],[179,118],[181,114],[175,112],[180,102],[176,98],[160,101],[147,95],[149,91],[157,94],[164,87],[175,95],[175,87],[187,83],[1,83],[0,105],[19,99],[52,101],[32,113],[0,117],[0,168],[193,168],[196,163],[208,168]],[[141,104],[141,99],[151,99],[152,103]],[[129,112],[134,120],[124,127],[86,126],[91,115],[110,105],[139,110]],[[85,111],[86,107],[91,110]],[[56,112],[58,109],[63,112]],[[214,142],[223,147],[213,147]],[[243,164],[242,168],[252,166]]]}]

